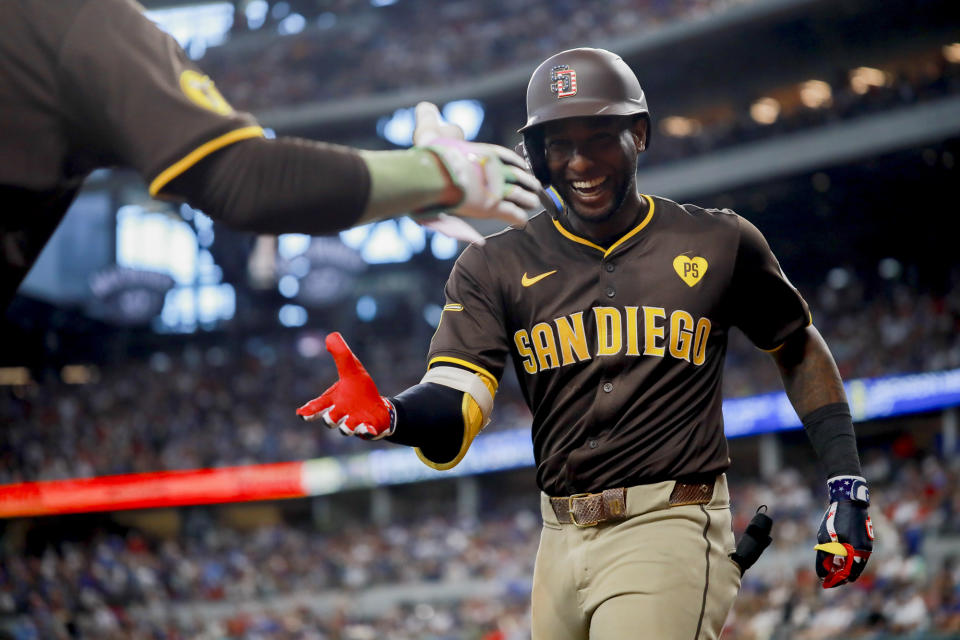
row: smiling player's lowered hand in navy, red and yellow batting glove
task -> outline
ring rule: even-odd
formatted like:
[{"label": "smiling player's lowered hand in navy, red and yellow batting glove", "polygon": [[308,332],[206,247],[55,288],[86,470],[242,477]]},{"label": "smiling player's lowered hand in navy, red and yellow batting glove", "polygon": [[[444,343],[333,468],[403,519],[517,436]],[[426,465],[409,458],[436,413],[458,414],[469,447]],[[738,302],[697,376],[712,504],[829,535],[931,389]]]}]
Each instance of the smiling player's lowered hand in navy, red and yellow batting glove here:
[{"label": "smiling player's lowered hand in navy, red and yellow batting glove", "polygon": [[854,582],[873,552],[873,524],[867,514],[870,490],[859,476],[827,480],[830,506],[817,531],[816,569],[823,588]]}]

